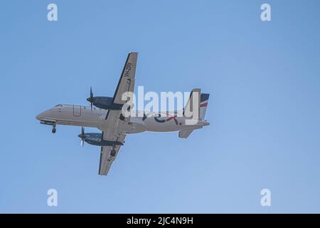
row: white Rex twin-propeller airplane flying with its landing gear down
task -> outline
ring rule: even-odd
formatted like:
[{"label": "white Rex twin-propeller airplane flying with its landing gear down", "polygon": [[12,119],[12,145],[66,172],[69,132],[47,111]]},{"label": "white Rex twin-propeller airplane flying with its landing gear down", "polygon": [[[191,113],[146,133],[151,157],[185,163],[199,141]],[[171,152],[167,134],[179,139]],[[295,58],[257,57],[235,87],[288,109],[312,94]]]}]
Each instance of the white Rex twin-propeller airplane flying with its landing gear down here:
[{"label": "white Rex twin-propeller airplane flying with its landing gear down", "polygon": [[[119,78],[117,89],[113,97],[94,96],[90,88],[89,105],[55,105],[53,108],[36,115],[41,124],[52,125],[52,133],[56,132],[56,125],[80,126],[81,145],[85,142],[101,147],[99,175],[107,175],[112,162],[117,157],[120,147],[128,134],[149,132],[178,131],[179,138],[188,138],[193,130],[209,125],[205,120],[209,94],[201,93],[200,89],[193,89],[184,109],[183,116],[176,116],[176,112],[148,113],[142,117],[122,115],[122,107],[127,100],[122,100],[125,92],[134,92],[134,77],[137,66],[137,52],[129,52]],[[196,124],[188,125],[188,118],[184,110],[191,109],[193,93],[198,93],[198,120]],[[197,96],[196,96],[197,97]],[[196,99],[196,98],[195,98]],[[130,109],[130,107],[128,108]],[[102,133],[85,133],[85,127],[97,128]]]}]

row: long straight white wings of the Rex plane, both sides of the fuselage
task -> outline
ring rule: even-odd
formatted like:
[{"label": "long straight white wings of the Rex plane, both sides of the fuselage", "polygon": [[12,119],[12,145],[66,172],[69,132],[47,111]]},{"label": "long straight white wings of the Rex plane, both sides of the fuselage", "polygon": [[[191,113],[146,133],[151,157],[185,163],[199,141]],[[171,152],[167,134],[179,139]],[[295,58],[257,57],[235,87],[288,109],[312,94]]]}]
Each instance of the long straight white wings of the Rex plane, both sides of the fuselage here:
[{"label": "long straight white wings of the Rex plane, both sides of the fuselage", "polygon": [[[136,52],[130,52],[127,57],[127,61],[124,64],[124,68],[122,70],[122,74],[119,79],[119,83],[117,89],[115,90],[113,96],[113,102],[118,104],[124,104],[127,100],[122,100],[122,94],[125,92],[134,91],[134,76],[136,72],[137,66],[137,55]],[[107,115],[105,117],[105,130],[102,131],[102,139],[108,141],[117,141],[124,142],[124,138],[126,137],[126,133],[122,130],[123,125],[127,125],[130,116],[121,118],[122,110],[108,110]],[[117,157],[117,154],[120,150],[121,145],[116,145],[114,150],[116,154],[112,157],[111,150],[112,146],[104,146],[101,147],[100,152],[100,167],[99,167],[99,175],[107,175],[112,165],[112,162]]]}]

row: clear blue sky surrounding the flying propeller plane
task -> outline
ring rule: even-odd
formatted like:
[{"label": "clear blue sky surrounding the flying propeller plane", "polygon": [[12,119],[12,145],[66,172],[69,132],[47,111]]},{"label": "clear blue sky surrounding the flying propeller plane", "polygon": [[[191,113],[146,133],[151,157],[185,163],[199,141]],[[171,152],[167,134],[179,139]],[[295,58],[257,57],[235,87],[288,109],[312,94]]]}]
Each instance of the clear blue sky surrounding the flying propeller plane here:
[{"label": "clear blue sky surrounding the flying propeller plane", "polygon": [[[46,19],[58,5],[58,21]],[[269,3],[272,21],[260,20]],[[320,212],[319,1],[1,1],[0,212]],[[107,177],[58,103],[137,86],[210,93],[210,126],[129,135]],[[87,129],[90,130],[90,129]],[[92,129],[95,131],[94,129]],[[58,207],[46,192],[58,190]],[[271,207],[260,191],[272,192]]]}]

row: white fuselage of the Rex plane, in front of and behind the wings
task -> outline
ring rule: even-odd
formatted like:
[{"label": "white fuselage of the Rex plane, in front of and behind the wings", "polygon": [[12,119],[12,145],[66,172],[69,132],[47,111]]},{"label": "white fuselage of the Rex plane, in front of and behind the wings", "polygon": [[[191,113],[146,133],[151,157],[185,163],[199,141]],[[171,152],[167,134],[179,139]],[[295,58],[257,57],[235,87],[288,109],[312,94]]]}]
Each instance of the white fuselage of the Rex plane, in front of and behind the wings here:
[{"label": "white fuselage of the Rex plane, in front of and behind the wings", "polygon": [[[105,117],[108,110],[92,108],[82,105],[56,105],[36,116],[41,121],[52,121],[56,125],[74,125],[104,130]],[[137,111],[138,112],[138,111]],[[174,117],[174,113],[148,113],[147,117],[142,115],[132,116],[130,122],[122,127],[126,133],[171,132],[179,130],[194,130],[209,125],[208,122],[198,120],[193,125],[186,124],[186,118]]]}]

